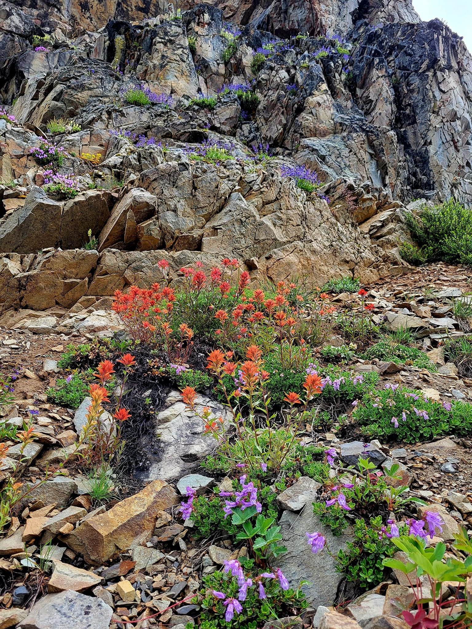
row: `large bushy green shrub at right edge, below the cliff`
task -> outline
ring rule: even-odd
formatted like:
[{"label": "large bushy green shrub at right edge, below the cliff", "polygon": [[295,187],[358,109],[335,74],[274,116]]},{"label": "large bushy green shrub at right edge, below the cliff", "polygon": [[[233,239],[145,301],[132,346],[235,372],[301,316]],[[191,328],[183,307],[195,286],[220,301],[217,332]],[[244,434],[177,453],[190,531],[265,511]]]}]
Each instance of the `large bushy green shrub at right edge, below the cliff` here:
[{"label": "large bushy green shrub at right edge, below the cliff", "polygon": [[472,210],[451,199],[425,208],[420,218],[407,214],[407,225],[420,245],[415,251],[419,260],[472,265]]}]

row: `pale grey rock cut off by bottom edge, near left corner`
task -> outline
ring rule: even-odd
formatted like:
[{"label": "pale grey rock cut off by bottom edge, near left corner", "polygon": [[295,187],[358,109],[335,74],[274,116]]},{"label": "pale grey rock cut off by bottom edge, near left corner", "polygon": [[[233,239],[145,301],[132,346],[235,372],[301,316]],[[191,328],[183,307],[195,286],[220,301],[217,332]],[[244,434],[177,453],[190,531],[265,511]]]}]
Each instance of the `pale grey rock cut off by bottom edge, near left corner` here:
[{"label": "pale grey rock cut off by bottom edge, near left corner", "polygon": [[101,598],[67,590],[35,603],[18,629],[108,629],[112,614]]}]

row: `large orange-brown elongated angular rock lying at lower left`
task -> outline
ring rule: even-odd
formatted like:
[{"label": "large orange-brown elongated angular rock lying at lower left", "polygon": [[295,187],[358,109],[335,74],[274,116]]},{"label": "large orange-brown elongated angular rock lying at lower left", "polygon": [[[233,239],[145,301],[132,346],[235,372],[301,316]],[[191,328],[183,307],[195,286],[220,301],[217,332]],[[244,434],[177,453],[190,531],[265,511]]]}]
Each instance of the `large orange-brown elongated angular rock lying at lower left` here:
[{"label": "large orange-brown elongated angular rock lying at lower left", "polygon": [[87,563],[103,564],[128,549],[140,533],[154,531],[157,513],[177,504],[179,498],[167,482],[153,481],[106,513],[82,522],[65,537],[65,543],[80,552]]}]

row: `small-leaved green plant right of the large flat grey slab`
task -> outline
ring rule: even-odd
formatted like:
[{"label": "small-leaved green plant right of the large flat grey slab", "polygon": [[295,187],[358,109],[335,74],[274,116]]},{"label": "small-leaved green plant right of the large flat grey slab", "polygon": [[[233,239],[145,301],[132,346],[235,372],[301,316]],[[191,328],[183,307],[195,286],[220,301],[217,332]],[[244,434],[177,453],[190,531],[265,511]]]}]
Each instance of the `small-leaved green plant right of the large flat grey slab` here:
[{"label": "small-leaved green plant right of the large flat grey slab", "polygon": [[336,556],[337,571],[346,575],[347,581],[356,581],[361,589],[372,589],[386,580],[389,569],[383,560],[393,557],[397,548],[382,533],[382,518],[370,518],[369,525],[364,518],[354,524],[354,540],[346,542],[347,550],[340,550]]}]

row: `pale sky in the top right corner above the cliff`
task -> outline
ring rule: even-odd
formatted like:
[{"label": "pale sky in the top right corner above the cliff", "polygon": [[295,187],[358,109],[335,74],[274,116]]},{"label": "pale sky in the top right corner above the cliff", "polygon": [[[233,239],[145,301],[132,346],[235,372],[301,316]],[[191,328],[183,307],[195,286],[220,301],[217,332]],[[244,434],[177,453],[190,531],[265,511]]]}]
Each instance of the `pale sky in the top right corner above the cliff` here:
[{"label": "pale sky in the top right corner above the cliff", "polygon": [[413,6],[425,22],[434,18],[446,22],[472,52],[472,0],[413,0]]}]

